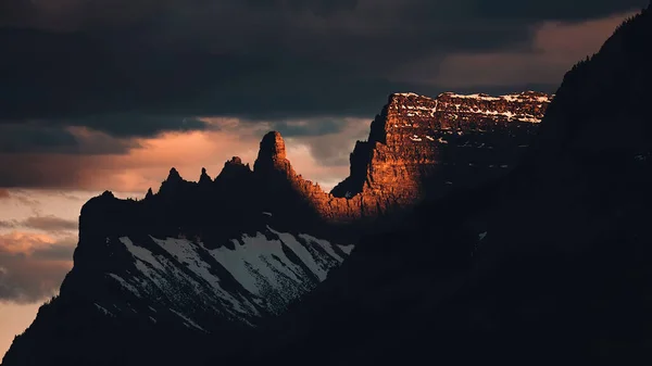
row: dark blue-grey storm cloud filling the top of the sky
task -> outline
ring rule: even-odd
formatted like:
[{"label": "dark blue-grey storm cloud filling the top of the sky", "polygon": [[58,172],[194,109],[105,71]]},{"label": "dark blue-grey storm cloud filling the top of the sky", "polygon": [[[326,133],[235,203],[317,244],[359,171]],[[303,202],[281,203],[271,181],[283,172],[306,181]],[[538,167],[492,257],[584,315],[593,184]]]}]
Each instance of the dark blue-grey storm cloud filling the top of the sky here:
[{"label": "dark blue-grey storm cloud filling the top of the sky", "polygon": [[414,60],[527,49],[537,22],[645,2],[5,0],[0,24],[14,27],[0,29],[0,119],[126,137],[203,128],[152,115],[369,117],[390,92],[449,89],[388,80]]}]

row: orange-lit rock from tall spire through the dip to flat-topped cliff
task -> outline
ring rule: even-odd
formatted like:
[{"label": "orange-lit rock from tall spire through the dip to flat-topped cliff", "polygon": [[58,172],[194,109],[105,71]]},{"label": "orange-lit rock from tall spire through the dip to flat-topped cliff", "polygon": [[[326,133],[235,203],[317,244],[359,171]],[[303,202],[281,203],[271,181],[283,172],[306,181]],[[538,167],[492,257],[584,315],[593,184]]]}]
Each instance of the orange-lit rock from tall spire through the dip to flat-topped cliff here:
[{"label": "orange-lit rock from tall spire through the dip to flat-topped cliff", "polygon": [[436,99],[394,93],[372,122],[367,141],[356,142],[350,176],[329,194],[293,172],[278,132],[263,138],[254,173],[279,172],[322,219],[374,219],[506,174],[529,146],[551,99],[531,91]]}]

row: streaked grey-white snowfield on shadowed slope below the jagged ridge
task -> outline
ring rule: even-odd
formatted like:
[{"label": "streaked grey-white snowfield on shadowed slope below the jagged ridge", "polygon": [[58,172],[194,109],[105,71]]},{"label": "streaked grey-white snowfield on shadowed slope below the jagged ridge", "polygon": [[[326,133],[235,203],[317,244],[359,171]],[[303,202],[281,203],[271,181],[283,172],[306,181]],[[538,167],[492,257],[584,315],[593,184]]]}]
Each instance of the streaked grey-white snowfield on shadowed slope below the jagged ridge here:
[{"label": "streaked grey-white snowfield on shadowed slope below the jagged ridge", "polygon": [[[105,274],[125,299],[133,300],[126,304],[141,304],[138,312],[152,319],[162,312],[174,315],[187,327],[201,331],[210,331],[201,321],[206,317],[221,316],[255,326],[262,316],[283,312],[325,280],[353,249],[306,234],[276,231],[269,226],[218,248],[152,236],[147,240],[120,237],[111,241],[117,243],[115,250],[133,258],[133,267]],[[103,314],[120,307],[101,301],[96,306]]]}]

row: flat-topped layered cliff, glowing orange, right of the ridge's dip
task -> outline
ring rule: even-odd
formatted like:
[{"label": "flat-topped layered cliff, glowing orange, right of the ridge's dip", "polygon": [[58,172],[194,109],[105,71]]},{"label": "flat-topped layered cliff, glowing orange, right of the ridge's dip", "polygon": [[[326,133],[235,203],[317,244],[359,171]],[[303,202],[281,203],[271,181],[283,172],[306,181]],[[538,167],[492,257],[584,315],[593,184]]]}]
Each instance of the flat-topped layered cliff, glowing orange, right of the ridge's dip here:
[{"label": "flat-topped layered cliff, glowing orange, right of the ridge's dip", "polygon": [[[443,93],[437,99],[393,94],[374,121],[377,126],[372,127],[369,141],[356,146],[350,180],[336,187],[334,194],[389,192],[405,204],[427,193],[424,182],[430,180],[480,184],[499,175],[492,169],[513,166],[521,155],[518,149],[527,147],[536,134],[550,100],[537,92],[503,97]],[[441,174],[432,179],[436,172]]]}]

